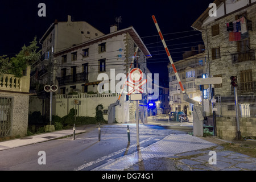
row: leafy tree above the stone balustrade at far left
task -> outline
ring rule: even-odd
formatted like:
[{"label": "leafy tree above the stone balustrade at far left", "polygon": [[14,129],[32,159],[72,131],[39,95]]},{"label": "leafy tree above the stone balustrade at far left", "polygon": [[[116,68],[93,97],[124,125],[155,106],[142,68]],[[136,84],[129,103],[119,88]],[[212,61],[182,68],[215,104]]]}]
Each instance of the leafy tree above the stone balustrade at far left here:
[{"label": "leafy tree above the stone balustrade at far left", "polygon": [[28,65],[33,64],[35,61],[40,59],[40,52],[37,52],[39,48],[36,46],[38,42],[36,41],[36,37],[32,42],[30,42],[30,46],[23,46],[22,50],[15,55],[15,57],[5,58],[6,56],[0,57],[0,73],[11,73],[15,77],[22,77],[22,71],[27,68]]}]

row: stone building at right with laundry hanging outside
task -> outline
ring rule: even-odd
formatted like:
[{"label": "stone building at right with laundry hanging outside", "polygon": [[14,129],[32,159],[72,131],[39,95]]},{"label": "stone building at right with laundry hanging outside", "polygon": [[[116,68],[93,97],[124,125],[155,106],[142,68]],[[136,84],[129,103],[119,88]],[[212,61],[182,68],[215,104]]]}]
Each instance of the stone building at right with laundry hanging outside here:
[{"label": "stone building at right with laundry hanging outside", "polygon": [[217,98],[217,135],[234,138],[239,130],[234,89],[230,85],[230,77],[236,76],[237,104],[249,104],[246,115],[238,110],[240,131],[242,136],[256,136],[256,1],[216,0],[213,3],[216,9],[209,7],[192,27],[202,32],[208,76],[222,77],[222,84],[213,85],[211,92]]}]

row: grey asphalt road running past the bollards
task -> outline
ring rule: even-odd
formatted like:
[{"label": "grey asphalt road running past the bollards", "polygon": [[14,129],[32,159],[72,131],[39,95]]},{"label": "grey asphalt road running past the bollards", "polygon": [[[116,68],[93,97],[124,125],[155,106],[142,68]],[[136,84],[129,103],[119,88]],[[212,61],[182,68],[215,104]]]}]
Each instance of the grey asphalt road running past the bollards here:
[{"label": "grey asphalt road running past the bollards", "polygon": [[[168,122],[168,121],[167,121]],[[0,151],[0,170],[82,170],[89,171],[102,164],[137,151],[136,125],[129,124],[131,143],[128,144],[127,124],[80,126],[86,133],[48,142]],[[164,129],[156,125],[139,125],[139,147],[147,147],[172,133],[184,133]],[[39,164],[39,151],[46,154],[46,164]]]}]

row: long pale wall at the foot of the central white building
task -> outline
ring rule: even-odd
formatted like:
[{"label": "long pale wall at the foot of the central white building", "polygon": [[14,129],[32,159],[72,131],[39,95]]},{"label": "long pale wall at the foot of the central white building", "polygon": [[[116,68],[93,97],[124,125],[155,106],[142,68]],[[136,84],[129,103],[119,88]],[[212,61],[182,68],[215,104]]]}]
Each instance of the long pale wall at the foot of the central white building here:
[{"label": "long pale wall at the foot of the central white building", "polygon": [[[118,96],[119,94],[57,94],[56,96],[53,96],[52,114],[64,117],[69,113],[69,110],[76,108],[79,116],[95,117],[97,105],[102,104],[104,110],[106,110],[105,112],[107,113],[109,105],[116,102],[118,100]],[[74,104],[74,100],[81,101],[81,104],[76,106]],[[29,112],[33,113],[34,111],[40,111],[41,114],[44,113],[44,102],[46,102],[46,100],[41,100],[36,96],[31,96]],[[106,113],[104,114],[104,119],[108,121],[108,114]],[[129,101],[125,101],[124,97],[121,97],[120,104],[115,106],[115,118],[119,123],[125,123],[130,120]]]}]

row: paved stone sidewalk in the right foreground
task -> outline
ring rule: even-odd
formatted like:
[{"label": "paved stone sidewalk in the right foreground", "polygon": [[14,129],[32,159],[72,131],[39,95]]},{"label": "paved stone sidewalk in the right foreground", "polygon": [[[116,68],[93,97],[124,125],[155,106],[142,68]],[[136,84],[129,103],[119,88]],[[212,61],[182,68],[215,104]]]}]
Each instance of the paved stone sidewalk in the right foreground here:
[{"label": "paved stone sidewalk in the right foreground", "polygon": [[[215,143],[188,134],[171,134],[134,152],[111,160],[93,171],[255,171],[256,158],[225,151]],[[216,164],[209,164],[210,151],[216,152]],[[149,161],[149,162],[148,162]]]}]

